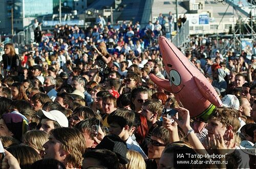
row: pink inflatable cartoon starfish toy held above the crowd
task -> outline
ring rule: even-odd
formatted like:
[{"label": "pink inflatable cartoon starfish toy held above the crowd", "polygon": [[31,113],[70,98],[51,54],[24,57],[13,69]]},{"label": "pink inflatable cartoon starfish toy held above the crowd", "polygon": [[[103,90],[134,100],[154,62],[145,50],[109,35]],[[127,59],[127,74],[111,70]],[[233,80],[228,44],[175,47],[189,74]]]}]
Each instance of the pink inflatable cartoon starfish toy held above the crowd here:
[{"label": "pink inflatable cartoon starfish toy held above the crowd", "polygon": [[191,118],[207,121],[215,107],[222,105],[214,87],[204,75],[168,39],[159,37],[159,46],[168,79],[150,74],[157,86],[175,95]]}]

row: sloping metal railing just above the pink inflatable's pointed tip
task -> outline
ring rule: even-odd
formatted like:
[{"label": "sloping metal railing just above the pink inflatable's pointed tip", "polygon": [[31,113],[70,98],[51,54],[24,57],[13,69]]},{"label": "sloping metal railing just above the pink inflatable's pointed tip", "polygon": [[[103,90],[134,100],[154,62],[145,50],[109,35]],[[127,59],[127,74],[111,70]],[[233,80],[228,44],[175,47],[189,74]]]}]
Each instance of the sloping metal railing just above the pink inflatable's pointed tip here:
[{"label": "sloping metal railing just above the pink inflatable's pointed tip", "polygon": [[187,38],[189,36],[189,22],[186,21],[177,34],[173,37],[172,43],[177,47],[182,47],[184,43],[186,43]]}]

